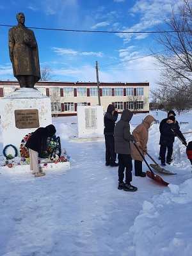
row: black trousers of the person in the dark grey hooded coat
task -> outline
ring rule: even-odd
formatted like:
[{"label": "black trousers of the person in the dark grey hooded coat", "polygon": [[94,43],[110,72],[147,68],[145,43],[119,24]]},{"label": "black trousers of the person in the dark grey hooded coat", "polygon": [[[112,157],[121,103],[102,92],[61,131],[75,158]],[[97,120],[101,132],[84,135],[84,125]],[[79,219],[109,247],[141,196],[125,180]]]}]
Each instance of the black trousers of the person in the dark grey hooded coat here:
[{"label": "black trousers of the person in the dark grey hooded coat", "polygon": [[118,154],[118,181],[122,183],[124,181],[125,171],[125,183],[130,184],[132,181],[132,158],[131,155]]}]

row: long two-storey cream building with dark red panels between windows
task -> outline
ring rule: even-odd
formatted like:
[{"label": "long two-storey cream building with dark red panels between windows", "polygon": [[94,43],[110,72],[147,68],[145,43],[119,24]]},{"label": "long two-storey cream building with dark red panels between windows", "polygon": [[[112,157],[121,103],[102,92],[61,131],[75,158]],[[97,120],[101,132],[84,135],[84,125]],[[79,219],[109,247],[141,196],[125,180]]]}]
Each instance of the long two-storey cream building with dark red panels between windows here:
[{"label": "long two-storey cream building with dark red panels between windows", "polygon": [[[17,81],[0,81],[0,99],[19,88]],[[149,112],[149,83],[97,83],[40,81],[35,88],[51,99],[52,115],[77,115],[77,106],[103,106],[113,104],[121,113],[129,109],[134,113]],[[99,92],[99,96],[98,96]]]}]

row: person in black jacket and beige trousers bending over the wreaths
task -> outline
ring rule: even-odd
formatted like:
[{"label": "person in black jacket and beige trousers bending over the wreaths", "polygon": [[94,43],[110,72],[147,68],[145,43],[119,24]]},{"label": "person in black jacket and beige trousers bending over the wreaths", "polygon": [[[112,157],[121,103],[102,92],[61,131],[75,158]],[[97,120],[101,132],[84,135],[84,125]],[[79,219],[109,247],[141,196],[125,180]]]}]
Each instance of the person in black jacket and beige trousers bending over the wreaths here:
[{"label": "person in black jacket and beige trousers bending over the wreaths", "polygon": [[47,138],[56,133],[54,125],[50,124],[44,127],[39,127],[29,137],[25,147],[29,148],[30,170],[33,170],[35,177],[42,177],[45,173],[40,172],[38,166],[38,153],[42,148],[46,152],[47,150]]}]

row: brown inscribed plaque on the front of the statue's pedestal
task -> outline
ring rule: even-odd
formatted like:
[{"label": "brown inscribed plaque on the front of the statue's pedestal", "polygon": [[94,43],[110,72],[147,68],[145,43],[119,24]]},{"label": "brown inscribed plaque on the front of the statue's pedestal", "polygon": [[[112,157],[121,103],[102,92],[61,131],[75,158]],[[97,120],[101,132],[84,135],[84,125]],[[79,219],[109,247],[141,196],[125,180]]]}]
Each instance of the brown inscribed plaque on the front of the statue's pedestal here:
[{"label": "brown inscribed plaque on the front of the statue's pedestal", "polygon": [[15,126],[19,129],[38,128],[38,109],[15,110]]}]

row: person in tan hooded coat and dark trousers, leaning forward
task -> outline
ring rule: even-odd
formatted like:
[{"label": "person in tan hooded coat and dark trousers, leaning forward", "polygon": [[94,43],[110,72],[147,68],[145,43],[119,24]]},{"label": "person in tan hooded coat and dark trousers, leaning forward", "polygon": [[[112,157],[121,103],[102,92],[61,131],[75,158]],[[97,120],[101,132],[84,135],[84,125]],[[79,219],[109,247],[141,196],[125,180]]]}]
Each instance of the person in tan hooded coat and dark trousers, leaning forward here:
[{"label": "person in tan hooded coat and dark trousers, leaning forward", "polygon": [[[147,141],[148,141],[148,129],[155,122],[155,118],[151,115],[148,115],[144,118],[143,122],[138,125],[132,135],[136,145],[139,147],[141,154],[144,156],[147,153]],[[131,144],[132,147],[132,159],[134,159],[134,172],[136,176],[146,177],[146,173],[142,171],[142,162],[143,158],[138,152],[137,148]]]}]

